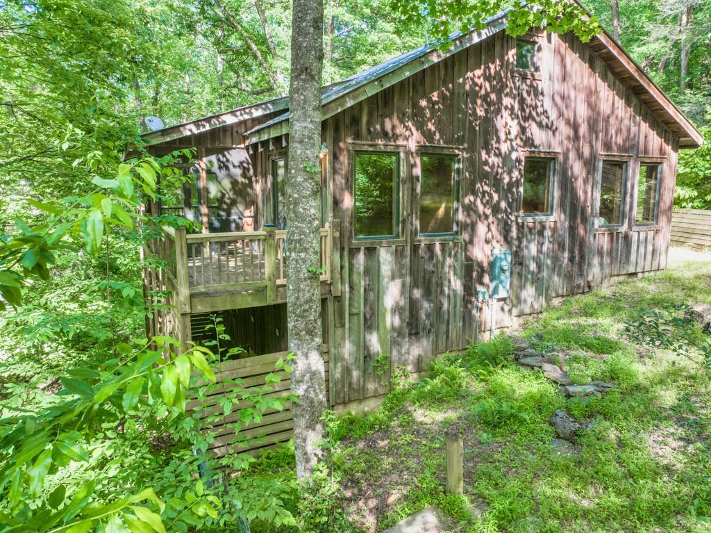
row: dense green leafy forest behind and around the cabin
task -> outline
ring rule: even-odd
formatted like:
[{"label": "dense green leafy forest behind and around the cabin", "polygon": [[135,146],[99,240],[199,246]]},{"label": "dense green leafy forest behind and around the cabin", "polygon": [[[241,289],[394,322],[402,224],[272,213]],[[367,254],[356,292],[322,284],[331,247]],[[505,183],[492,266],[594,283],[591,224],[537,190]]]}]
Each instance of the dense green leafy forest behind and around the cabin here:
[{"label": "dense green leafy forest behind and around the cabin", "polygon": [[[711,209],[711,0],[585,6],[703,129],[705,146],[680,156],[675,204]],[[146,116],[174,125],[286,93],[290,9],[284,0],[0,0],[0,239],[17,231],[18,218],[46,217],[38,202],[92,194],[98,169],[119,166],[127,144],[146,131]],[[390,0],[327,0],[325,9],[324,85],[439,33],[403,23]],[[122,228],[104,237],[105,253],[98,255],[75,253],[79,245],[55,250],[46,279],[22,289],[23,305],[0,311],[4,416],[51,406],[66,369],[100,368],[115,356],[114,346],[144,335],[138,253],[144,236]],[[100,444],[76,452],[91,460],[65,485],[92,479],[107,502],[132,486],[180,492],[169,502],[169,518],[182,523],[176,517],[190,505],[176,489],[180,480],[203,491],[188,468],[196,442],[176,455],[176,443],[161,437],[176,431],[180,418],[157,423],[155,409],[134,413],[120,431],[103,428]],[[120,487],[112,482],[117,478]],[[282,502],[289,490],[261,487],[268,497],[249,512],[281,508],[274,499]],[[40,491],[35,501],[46,497]],[[193,497],[205,505],[194,520],[215,520],[206,509],[218,505]],[[221,510],[219,519],[237,514]]]}]

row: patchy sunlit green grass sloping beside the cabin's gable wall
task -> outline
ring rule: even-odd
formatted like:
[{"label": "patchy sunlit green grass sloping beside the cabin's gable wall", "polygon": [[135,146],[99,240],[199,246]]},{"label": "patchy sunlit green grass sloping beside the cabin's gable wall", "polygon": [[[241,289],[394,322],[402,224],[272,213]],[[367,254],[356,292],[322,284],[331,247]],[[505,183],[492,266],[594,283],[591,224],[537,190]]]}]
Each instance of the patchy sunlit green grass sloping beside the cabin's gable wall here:
[{"label": "patchy sunlit green grass sloping beside the cabin's gable wall", "polygon": [[[613,381],[565,399],[513,364],[506,337],[447,356],[417,383],[397,379],[383,407],[331,426],[331,468],[358,532],[378,532],[431,504],[452,531],[708,532],[710,379],[675,354],[636,344],[624,320],[641,308],[711,303],[711,255],[671,250],[664,273],[571,297],[529,320],[538,349],[574,382]],[[576,445],[552,445],[557,408],[590,422]],[[464,436],[465,495],[445,495],[444,434]],[[288,453],[257,462],[285,476]],[[258,531],[258,529],[257,529]]]}]

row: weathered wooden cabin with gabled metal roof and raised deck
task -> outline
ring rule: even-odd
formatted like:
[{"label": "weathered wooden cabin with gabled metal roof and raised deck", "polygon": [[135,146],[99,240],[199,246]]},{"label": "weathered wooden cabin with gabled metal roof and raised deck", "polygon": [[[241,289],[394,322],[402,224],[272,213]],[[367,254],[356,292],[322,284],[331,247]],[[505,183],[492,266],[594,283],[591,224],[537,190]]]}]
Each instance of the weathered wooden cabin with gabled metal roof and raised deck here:
[{"label": "weathered wooden cabin with gabled metal roof and raised deck", "polygon": [[[700,133],[606,33],[505,28],[501,14],[445,52],[424,46],[324,88],[332,406],[557,297],[665,268],[678,150]],[[167,263],[146,287],[170,290],[171,307],[149,330],[199,340],[218,313],[255,362],[274,360],[287,349],[287,99],[145,139],[156,154],[197,147],[176,201],[151,209],[202,224],[153,243]]]}]

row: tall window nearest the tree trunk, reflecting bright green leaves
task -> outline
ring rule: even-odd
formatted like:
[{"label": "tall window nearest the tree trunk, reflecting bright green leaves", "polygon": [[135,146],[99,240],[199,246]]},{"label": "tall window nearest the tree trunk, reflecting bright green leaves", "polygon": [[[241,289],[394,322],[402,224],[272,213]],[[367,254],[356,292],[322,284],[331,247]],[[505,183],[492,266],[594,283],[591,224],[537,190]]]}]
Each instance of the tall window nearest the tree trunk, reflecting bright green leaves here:
[{"label": "tall window nearest the tree trunk, reflecting bright green leaves", "polygon": [[356,152],[355,238],[397,237],[400,154]]}]

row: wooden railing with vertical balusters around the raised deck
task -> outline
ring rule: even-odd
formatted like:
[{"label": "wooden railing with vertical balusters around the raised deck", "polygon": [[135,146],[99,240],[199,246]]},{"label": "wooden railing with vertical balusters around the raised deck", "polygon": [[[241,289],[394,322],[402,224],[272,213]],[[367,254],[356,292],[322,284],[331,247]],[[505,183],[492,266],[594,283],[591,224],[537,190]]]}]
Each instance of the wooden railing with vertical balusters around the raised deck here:
[{"label": "wooden railing with vertical balusters around the raised deck", "polygon": [[[266,290],[273,302],[277,286],[287,283],[289,249],[286,230],[230,233],[187,233],[164,226],[164,240],[151,251],[164,261],[164,272],[178,292],[178,300],[193,294]],[[321,282],[331,283],[333,228],[321,236]]]}]

